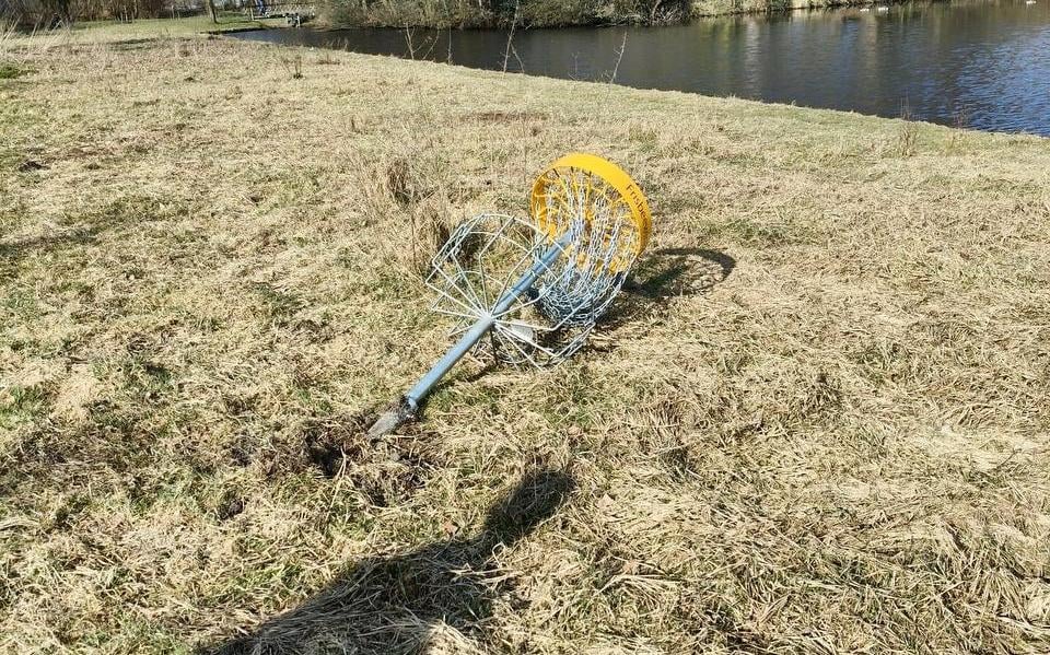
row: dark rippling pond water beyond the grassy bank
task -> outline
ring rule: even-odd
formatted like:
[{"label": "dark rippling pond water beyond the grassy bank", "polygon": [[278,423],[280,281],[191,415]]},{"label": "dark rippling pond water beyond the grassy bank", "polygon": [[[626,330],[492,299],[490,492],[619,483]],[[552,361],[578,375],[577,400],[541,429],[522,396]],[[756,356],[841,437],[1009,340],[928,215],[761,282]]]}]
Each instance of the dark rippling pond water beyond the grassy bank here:
[{"label": "dark rippling pond water beyond the grassy bank", "polygon": [[[1050,0],[735,16],[672,27],[283,30],[244,38],[1050,136]],[[617,68],[619,50],[626,50]],[[961,117],[961,118],[960,118]]]}]

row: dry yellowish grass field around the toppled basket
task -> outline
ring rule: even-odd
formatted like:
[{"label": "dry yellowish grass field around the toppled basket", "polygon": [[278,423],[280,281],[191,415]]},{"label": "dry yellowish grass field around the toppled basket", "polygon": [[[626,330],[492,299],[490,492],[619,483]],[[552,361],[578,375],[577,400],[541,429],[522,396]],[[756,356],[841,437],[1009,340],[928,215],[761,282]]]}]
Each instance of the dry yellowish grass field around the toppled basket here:
[{"label": "dry yellowish grass field around the toppled basket", "polygon": [[[1050,652],[1050,141],[85,34],[0,44],[0,651]],[[596,338],[366,442],[571,150]]]}]

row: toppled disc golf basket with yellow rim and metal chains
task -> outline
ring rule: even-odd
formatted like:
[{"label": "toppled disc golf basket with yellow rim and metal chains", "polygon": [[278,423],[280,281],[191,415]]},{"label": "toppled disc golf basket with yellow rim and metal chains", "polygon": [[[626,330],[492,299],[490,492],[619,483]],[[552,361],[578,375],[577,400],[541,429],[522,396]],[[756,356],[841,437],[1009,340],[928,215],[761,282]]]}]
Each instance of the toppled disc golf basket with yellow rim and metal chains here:
[{"label": "toppled disc golf basket with yellow rim and metal chains", "polygon": [[641,189],[619,166],[573,153],[533,185],[530,219],[482,213],[462,223],[434,256],[433,309],[458,337],[369,430],[385,434],[413,417],[471,348],[489,358],[547,366],[570,356],[608,309],[652,230]]}]

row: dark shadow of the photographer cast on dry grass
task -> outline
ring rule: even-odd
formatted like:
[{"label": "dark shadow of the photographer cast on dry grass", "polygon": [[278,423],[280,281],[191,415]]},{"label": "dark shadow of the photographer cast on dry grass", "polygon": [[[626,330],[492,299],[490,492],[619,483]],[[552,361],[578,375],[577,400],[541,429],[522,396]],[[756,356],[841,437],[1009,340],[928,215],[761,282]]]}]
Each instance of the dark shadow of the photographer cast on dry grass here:
[{"label": "dark shadow of the photographer cast on dry grass", "polygon": [[483,638],[492,603],[510,590],[487,580],[493,550],[552,516],[572,488],[561,471],[528,475],[489,508],[478,535],[360,561],[300,607],[200,653],[416,653],[439,621]]}]

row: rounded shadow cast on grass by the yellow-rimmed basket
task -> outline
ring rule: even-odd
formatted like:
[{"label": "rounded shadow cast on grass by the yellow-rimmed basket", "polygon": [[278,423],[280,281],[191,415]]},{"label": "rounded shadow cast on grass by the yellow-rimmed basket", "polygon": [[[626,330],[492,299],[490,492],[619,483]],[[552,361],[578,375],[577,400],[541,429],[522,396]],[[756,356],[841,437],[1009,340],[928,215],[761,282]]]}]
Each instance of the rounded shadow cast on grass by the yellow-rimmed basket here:
[{"label": "rounded shadow cast on grass by the yellow-rimmed basket", "polygon": [[661,312],[673,297],[704,293],[724,281],[736,259],[707,248],[662,248],[638,262],[623,283],[622,295],[603,319],[611,328],[633,321],[642,314]]}]

